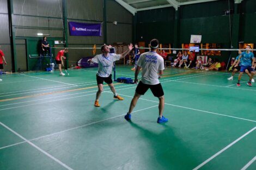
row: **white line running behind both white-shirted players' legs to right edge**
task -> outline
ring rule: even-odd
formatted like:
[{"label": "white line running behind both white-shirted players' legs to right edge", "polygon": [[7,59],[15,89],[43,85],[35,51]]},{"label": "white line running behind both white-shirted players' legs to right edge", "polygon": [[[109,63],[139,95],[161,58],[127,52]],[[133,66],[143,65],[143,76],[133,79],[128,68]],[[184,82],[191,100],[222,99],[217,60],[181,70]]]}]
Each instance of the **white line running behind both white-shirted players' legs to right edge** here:
[{"label": "white line running behind both white-shirted players' legs to right edge", "polygon": [[[110,93],[110,92],[108,92],[108,91],[106,91],[106,92],[107,92],[107,93]],[[128,96],[128,95],[124,95],[124,94],[120,94],[120,93],[119,93],[119,95],[133,98],[133,96]],[[149,101],[149,102],[159,103],[159,101],[148,100],[148,99],[143,99],[143,98],[139,98],[139,99],[141,99],[141,100],[147,100],[147,101]],[[205,113],[208,113],[208,114],[219,115],[219,116],[225,116],[225,117],[231,117],[231,118],[241,119],[241,120],[249,121],[249,122],[256,122],[256,121],[253,121],[253,120],[251,120],[251,119],[246,119],[246,118],[241,118],[241,117],[235,117],[235,116],[229,116],[229,115],[223,115],[223,114],[217,114],[217,113],[211,112],[211,111],[193,109],[193,108],[188,108],[188,107],[185,107],[185,106],[180,106],[180,105],[175,105],[175,104],[169,104],[169,103],[164,103],[164,104],[166,104],[166,105],[171,105],[171,106],[175,106],[175,107],[177,107],[177,108],[183,108],[183,109],[189,109],[189,110],[196,110],[196,111],[205,112]]]}]

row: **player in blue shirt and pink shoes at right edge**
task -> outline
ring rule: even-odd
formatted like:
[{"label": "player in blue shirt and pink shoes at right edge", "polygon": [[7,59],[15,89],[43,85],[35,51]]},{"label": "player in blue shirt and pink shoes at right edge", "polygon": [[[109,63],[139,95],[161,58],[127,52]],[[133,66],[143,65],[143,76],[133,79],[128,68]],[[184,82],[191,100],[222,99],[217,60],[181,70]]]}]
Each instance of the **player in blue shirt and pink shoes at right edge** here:
[{"label": "player in blue shirt and pink shoes at right edge", "polygon": [[236,86],[239,86],[239,87],[241,86],[240,80],[241,80],[242,74],[245,72],[245,70],[248,70],[251,73],[251,76],[249,77],[249,81],[248,81],[247,85],[252,86],[251,81],[252,81],[253,75],[255,74],[254,67],[253,67],[255,58],[254,58],[253,53],[250,52],[250,49],[251,49],[251,46],[247,45],[246,52],[242,52],[242,54],[239,56],[239,59],[237,61],[237,62],[241,61],[241,68],[240,68],[240,74],[239,74],[238,82],[237,82]]}]

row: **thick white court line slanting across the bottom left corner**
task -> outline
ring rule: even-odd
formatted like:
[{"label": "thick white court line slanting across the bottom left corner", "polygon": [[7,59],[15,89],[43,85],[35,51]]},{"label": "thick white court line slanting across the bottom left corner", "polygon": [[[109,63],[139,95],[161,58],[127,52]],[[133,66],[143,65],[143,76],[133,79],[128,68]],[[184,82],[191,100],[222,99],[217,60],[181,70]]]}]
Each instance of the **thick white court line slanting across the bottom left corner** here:
[{"label": "thick white court line slanting across the bottom left corner", "polygon": [[72,168],[70,168],[68,165],[66,165],[65,163],[63,163],[62,161],[58,160],[57,158],[55,158],[54,156],[52,156],[51,154],[47,153],[45,150],[42,150],[41,148],[39,148],[38,146],[36,146],[34,143],[32,143],[31,141],[28,141],[25,137],[21,136],[20,134],[16,133],[16,131],[14,131],[13,129],[9,128],[7,125],[3,124],[2,122],[0,122],[0,124],[8,129],[9,131],[11,131],[12,133],[14,133],[16,136],[19,136],[20,138],[22,138],[22,140],[26,141],[28,144],[30,144],[32,147],[38,149],[41,153],[45,154],[46,156],[48,156],[49,158],[51,158],[52,160],[56,161],[57,163],[59,163],[60,165],[62,165],[63,167],[65,167],[66,169],[70,169],[72,170]]}]

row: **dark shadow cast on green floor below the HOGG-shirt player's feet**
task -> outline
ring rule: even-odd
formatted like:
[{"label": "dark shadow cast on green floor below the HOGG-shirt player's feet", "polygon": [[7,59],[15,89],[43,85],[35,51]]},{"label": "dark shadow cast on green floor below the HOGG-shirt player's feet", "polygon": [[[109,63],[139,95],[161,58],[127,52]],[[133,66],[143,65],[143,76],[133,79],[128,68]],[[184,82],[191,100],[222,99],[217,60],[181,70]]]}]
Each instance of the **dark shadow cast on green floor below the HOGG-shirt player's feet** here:
[{"label": "dark shadow cast on green floor below the HOGG-shirt player's feet", "polygon": [[[157,124],[162,126],[160,134],[145,129],[141,125],[129,121],[131,128],[139,132],[140,137],[147,143],[148,150],[138,150],[144,152],[144,157],[139,160],[139,164],[148,167],[141,169],[192,169],[198,165],[198,160],[194,156],[188,144],[179,138],[175,129],[167,124]],[[142,161],[142,162],[141,162]]]}]

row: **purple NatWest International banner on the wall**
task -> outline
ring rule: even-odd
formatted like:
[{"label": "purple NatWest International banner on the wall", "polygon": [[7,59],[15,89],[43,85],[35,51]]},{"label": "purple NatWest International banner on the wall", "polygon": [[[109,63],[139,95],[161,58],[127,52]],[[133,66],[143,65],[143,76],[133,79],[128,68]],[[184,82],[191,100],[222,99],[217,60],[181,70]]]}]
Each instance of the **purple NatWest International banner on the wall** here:
[{"label": "purple NatWest International banner on the wall", "polygon": [[101,36],[101,23],[69,22],[69,33],[74,36]]}]

